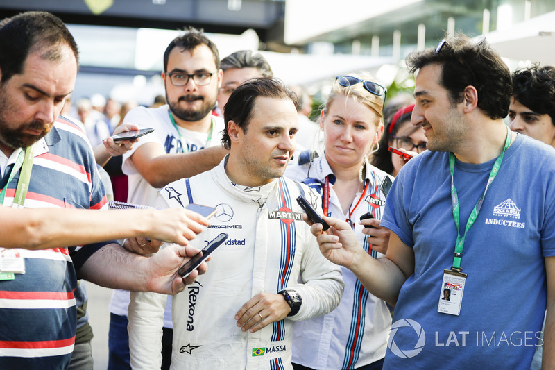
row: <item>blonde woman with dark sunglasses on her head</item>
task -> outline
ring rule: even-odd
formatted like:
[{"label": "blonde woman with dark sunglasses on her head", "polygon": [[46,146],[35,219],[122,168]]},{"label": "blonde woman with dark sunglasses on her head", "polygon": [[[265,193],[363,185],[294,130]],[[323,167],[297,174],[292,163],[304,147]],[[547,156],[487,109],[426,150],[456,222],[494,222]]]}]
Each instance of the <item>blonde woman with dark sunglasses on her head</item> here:
[{"label": "blonde woman with dark sunglasses on her head", "polygon": [[[320,116],[323,156],[311,159],[303,152],[286,172],[316,188],[324,215],[346,219],[375,258],[383,257],[389,240],[379,219],[386,199],[380,185],[390,176],[370,165],[368,156],[384,130],[385,97],[386,89],[368,75],[338,76]],[[371,218],[361,221],[363,215]],[[345,292],[339,307],[296,323],[293,369],[382,369],[391,314],[352,272],[342,270]]]}]

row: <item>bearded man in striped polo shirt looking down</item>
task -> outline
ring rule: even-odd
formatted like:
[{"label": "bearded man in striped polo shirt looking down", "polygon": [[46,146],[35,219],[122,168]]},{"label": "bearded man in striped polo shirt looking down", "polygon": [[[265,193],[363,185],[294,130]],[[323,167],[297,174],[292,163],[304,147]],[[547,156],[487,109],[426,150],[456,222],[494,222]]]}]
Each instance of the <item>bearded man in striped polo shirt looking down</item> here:
[{"label": "bearded man in striped polo shirt looking down", "polygon": [[[74,38],[57,17],[27,12],[3,22],[0,50],[0,204],[105,208],[83,129],[59,117],[78,69]],[[0,369],[68,366],[77,278],[175,294],[185,282],[173,276],[190,252],[176,246],[145,258],[114,242],[38,251],[0,248]]]}]

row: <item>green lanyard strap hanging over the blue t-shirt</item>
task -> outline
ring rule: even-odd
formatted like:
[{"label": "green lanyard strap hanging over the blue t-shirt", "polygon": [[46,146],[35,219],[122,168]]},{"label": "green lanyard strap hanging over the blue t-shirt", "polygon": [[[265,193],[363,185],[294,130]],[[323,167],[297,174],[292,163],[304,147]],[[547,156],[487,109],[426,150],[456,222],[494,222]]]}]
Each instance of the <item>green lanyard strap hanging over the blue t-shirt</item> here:
[{"label": "green lanyard strap hanging over the blue t-shirt", "polygon": [[454,170],[455,170],[455,155],[453,153],[449,153],[449,169],[451,172],[451,206],[453,208],[453,219],[455,221],[456,226],[456,243],[455,243],[455,253],[453,258],[453,266],[452,269],[457,271],[461,271],[461,258],[463,256],[463,246],[464,246],[464,238],[466,237],[466,233],[470,230],[470,227],[474,224],[474,221],[478,218],[478,214],[480,212],[480,208],[482,203],[484,203],[484,198],[486,197],[486,192],[490,187],[491,183],[493,183],[493,179],[497,176],[497,172],[499,172],[499,167],[501,167],[501,162],[503,160],[503,155],[507,148],[511,145],[511,131],[509,131],[509,127],[507,127],[507,138],[505,140],[505,147],[499,157],[495,160],[493,164],[493,168],[491,169],[490,176],[488,178],[488,183],[486,185],[486,190],[484,190],[484,194],[480,197],[478,203],[474,206],[472,213],[470,213],[470,217],[468,217],[468,221],[466,223],[466,228],[464,230],[464,235],[461,237],[460,232],[460,216],[459,216],[459,197],[456,194],[455,184],[454,184]]}]

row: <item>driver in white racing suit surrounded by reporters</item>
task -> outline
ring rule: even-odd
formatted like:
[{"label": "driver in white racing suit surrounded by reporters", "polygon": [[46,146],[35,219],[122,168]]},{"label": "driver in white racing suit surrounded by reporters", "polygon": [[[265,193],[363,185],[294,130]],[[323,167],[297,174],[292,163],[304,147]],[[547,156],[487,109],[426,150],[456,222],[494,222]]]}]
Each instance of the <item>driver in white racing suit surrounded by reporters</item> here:
[{"label": "driver in white racing suit surrounded by reporters", "polygon": [[[321,255],[296,202],[303,195],[320,209],[320,197],[282,177],[295,150],[295,101],[272,78],[239,86],[225,109],[222,141],[230,154],[160,190],[160,208],[198,203],[218,210],[194,246],[229,235],[207,273],[173,298],[171,369],[292,369],[293,321],[326,314],[341,300],[341,271]],[[131,295],[134,369],[160,367],[165,301]]]}]

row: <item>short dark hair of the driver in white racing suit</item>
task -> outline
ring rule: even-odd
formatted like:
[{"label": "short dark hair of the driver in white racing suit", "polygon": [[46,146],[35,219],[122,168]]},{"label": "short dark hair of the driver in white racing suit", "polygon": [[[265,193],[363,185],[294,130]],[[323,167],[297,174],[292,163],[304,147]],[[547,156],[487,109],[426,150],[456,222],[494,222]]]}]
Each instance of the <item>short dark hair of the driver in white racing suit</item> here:
[{"label": "short dark hair of the driver in white racing suit", "polygon": [[245,81],[230,95],[223,111],[223,130],[221,142],[225,149],[231,149],[231,139],[228,133],[229,121],[234,121],[237,126],[247,132],[248,122],[253,115],[253,106],[258,96],[274,99],[291,99],[295,106],[298,105],[296,94],[278,78],[258,77]]}]

